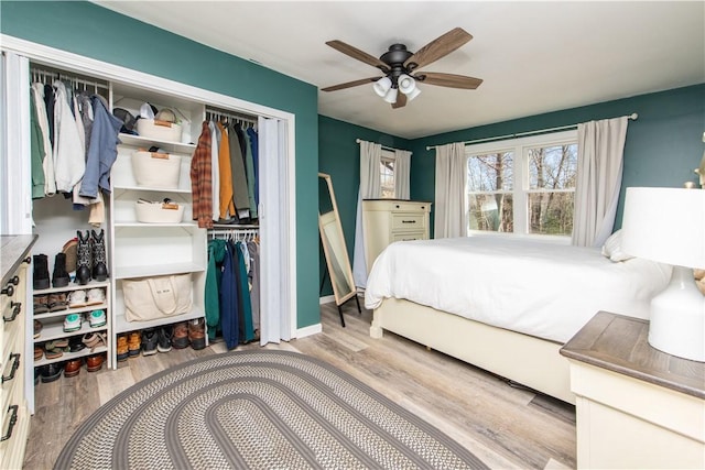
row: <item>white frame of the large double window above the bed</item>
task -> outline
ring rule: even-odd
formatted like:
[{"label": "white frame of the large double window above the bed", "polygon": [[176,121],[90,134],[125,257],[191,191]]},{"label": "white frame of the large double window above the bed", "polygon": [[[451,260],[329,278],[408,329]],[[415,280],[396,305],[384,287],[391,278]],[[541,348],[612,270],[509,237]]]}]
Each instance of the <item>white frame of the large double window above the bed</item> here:
[{"label": "white frame of the large double window above the bed", "polygon": [[[529,188],[529,149],[533,147],[547,147],[566,144],[578,144],[577,142],[577,129],[552,132],[540,135],[530,135],[516,139],[503,139],[492,142],[482,142],[465,146],[465,194],[464,194],[464,214],[466,217],[465,227],[468,227],[468,210],[469,210],[469,195],[470,189],[468,187],[467,178],[467,165],[468,161],[473,156],[486,155],[490,153],[512,152],[512,189],[511,190],[495,190],[495,192],[477,192],[477,194],[511,194],[512,195],[512,214],[513,214],[513,231],[512,232],[496,232],[488,230],[471,230],[467,229],[467,236],[487,234],[492,237],[523,237],[536,240],[552,241],[555,243],[570,244],[571,236],[555,236],[555,234],[541,234],[529,232],[529,194],[531,193],[545,193],[541,189]],[[577,168],[576,168],[577,174]],[[575,189],[573,189],[574,192]],[[567,193],[570,189],[557,189],[560,193]]]}]

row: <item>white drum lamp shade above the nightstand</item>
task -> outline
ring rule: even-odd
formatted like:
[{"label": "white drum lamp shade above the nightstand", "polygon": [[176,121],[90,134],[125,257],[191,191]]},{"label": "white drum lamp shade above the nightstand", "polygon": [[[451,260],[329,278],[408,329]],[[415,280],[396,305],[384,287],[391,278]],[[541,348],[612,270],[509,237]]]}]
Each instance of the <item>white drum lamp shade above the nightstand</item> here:
[{"label": "white drum lamp shade above the nightstand", "polygon": [[622,249],[638,258],[705,269],[705,190],[627,188]]}]

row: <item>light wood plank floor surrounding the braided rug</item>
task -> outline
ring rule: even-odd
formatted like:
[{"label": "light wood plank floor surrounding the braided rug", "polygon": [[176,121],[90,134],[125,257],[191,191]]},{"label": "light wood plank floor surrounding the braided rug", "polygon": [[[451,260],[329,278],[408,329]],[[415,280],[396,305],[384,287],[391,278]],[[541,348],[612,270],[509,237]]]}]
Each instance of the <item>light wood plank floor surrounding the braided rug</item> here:
[{"label": "light wood plank floor surrounding the braided rug", "polygon": [[[323,332],[268,348],[323,359],[435,425],[496,469],[575,468],[575,408],[511,386],[497,376],[391,334],[369,337],[371,311],[322,306]],[[259,348],[259,345],[240,349]],[[171,365],[225,350],[216,342],[139,357],[116,371],[82,370],[78,376],[35,386],[25,469],[53,467],[74,430],[101,404],[140,380]]]}]

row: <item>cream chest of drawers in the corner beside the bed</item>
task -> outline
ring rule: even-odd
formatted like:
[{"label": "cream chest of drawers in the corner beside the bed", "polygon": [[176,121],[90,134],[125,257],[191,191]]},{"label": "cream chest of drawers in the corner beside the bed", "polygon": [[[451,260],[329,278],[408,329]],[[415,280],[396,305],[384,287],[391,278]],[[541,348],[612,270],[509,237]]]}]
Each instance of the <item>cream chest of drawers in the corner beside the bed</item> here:
[{"label": "cream chest of drawers in the corner beside the bed", "polygon": [[429,240],[431,203],[401,199],[362,200],[367,272],[390,243]]}]

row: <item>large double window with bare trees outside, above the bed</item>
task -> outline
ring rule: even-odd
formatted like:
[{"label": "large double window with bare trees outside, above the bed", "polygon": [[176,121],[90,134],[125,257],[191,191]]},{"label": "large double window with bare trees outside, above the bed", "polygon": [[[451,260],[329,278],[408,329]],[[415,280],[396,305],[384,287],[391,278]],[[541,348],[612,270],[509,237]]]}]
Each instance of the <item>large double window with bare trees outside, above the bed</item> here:
[{"label": "large double window with bare trees outside, above the bed", "polygon": [[572,234],[576,131],[470,145],[466,155],[468,234]]}]

